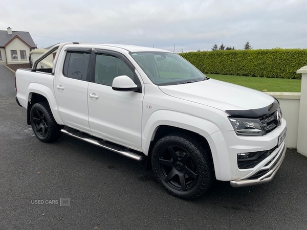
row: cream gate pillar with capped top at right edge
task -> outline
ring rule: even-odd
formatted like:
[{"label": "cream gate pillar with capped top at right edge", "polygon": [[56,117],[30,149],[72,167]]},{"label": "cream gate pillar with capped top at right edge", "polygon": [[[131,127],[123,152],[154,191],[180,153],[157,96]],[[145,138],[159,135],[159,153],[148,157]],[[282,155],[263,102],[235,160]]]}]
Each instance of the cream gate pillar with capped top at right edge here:
[{"label": "cream gate pillar with capped top at right edge", "polygon": [[297,152],[307,156],[307,65],[301,67],[296,73],[302,74]]}]

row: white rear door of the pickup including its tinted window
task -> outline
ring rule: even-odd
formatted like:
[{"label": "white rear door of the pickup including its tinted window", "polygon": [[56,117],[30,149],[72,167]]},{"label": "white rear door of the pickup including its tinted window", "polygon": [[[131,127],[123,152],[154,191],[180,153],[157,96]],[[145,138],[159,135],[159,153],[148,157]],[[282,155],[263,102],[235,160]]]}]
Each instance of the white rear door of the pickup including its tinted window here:
[{"label": "white rear door of the pickup including its tinted window", "polygon": [[67,49],[64,52],[62,72],[57,72],[54,84],[59,113],[65,125],[90,132],[87,87],[91,78],[91,50]]}]

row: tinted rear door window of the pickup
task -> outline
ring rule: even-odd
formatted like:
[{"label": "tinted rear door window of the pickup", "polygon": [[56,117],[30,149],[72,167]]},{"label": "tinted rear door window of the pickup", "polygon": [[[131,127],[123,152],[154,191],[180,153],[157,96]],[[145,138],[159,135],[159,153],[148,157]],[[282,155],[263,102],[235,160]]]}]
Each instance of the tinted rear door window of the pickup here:
[{"label": "tinted rear door window of the pickup", "polygon": [[78,51],[67,52],[64,61],[63,75],[65,77],[86,81],[90,55],[90,53]]}]

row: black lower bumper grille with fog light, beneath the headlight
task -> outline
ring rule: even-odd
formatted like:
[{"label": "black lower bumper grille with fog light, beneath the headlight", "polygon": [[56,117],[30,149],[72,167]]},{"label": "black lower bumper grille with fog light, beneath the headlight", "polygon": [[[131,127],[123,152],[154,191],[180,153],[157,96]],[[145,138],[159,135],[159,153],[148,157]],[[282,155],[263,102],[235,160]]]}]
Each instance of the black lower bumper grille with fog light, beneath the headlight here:
[{"label": "black lower bumper grille with fog light, beneath the headlight", "polygon": [[237,155],[237,162],[238,162],[238,168],[239,169],[251,169],[254,168],[256,165],[258,165],[262,160],[270,156],[277,146],[275,146],[273,149],[265,150],[265,151],[259,151],[259,152],[249,152],[249,153],[239,153]]}]

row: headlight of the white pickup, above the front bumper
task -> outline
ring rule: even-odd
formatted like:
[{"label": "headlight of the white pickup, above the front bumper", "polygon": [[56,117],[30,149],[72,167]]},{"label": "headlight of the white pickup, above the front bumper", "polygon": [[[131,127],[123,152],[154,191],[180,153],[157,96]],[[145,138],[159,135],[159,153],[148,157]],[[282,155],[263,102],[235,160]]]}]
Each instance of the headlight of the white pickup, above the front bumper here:
[{"label": "headlight of the white pickup, above the front bumper", "polygon": [[228,118],[237,135],[262,135],[264,127],[258,119]]}]

